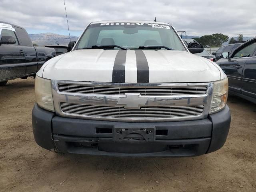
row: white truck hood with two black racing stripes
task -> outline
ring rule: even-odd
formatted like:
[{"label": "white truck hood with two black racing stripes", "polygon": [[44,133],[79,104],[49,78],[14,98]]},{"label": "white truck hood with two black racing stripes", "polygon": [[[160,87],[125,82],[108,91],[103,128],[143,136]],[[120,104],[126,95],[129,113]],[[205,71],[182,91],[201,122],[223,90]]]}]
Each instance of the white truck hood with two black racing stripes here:
[{"label": "white truck hood with two black racing stripes", "polygon": [[176,50],[74,50],[42,66],[38,76],[52,80],[174,83],[212,82],[220,67],[203,57]]}]

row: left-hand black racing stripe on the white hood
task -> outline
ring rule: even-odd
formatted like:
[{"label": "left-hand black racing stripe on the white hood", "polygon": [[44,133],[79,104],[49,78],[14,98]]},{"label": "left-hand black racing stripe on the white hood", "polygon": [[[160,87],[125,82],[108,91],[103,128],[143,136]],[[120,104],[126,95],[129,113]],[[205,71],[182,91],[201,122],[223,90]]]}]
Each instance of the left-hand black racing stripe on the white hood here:
[{"label": "left-hand black racing stripe on the white hood", "polygon": [[125,72],[125,61],[126,61],[126,50],[119,50],[116,54],[113,72],[112,82],[113,83],[124,83],[124,72]]}]

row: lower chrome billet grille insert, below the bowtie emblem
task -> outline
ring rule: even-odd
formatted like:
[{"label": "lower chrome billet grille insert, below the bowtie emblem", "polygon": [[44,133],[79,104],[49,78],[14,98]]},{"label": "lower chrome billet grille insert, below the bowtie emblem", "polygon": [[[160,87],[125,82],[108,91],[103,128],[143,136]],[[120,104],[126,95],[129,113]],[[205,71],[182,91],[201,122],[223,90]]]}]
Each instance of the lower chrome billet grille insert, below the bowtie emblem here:
[{"label": "lower chrome billet grille insert, below the bowtie emblem", "polygon": [[199,116],[204,105],[197,106],[164,106],[141,107],[140,109],[125,109],[122,106],[99,106],[61,102],[62,112],[94,117],[111,118],[171,118],[185,116]]}]

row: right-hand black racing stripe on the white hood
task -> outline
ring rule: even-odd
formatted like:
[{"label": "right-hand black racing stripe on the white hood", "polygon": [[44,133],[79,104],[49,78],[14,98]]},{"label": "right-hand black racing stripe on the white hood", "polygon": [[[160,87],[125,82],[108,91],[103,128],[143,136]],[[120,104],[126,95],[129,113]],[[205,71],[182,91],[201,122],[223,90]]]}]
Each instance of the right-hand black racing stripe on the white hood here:
[{"label": "right-hand black racing stripe on the white hood", "polygon": [[135,50],[137,62],[137,83],[149,82],[149,68],[147,58],[142,50]]}]

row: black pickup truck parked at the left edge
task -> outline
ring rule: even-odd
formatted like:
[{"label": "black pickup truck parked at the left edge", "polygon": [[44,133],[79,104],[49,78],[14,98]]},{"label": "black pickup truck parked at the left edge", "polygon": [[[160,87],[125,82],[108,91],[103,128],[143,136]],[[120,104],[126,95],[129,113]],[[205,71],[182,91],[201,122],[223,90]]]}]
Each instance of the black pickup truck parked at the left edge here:
[{"label": "black pickup truck parked at the left edge", "polygon": [[0,21],[0,86],[8,80],[35,76],[54,48],[34,47],[26,30]]}]

